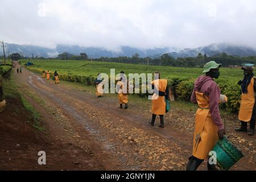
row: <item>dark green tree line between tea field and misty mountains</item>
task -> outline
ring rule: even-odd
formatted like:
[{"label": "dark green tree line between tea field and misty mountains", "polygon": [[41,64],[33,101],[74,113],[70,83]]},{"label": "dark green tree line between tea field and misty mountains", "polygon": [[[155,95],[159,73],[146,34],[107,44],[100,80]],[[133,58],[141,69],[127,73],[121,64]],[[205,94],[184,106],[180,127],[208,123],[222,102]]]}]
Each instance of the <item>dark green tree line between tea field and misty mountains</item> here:
[{"label": "dark green tree line between tea field and misty mountains", "polygon": [[[59,54],[57,57],[45,58],[45,57],[23,57],[19,53],[13,53],[10,55],[11,60],[19,59],[40,59],[40,60],[88,60],[86,53],[80,53],[80,55],[72,55],[71,53],[64,52]],[[3,56],[0,56],[3,59]],[[221,53],[215,56],[207,56],[199,53],[196,57],[178,57],[174,58],[168,53],[164,53],[162,56],[152,59],[151,57],[139,57],[138,53],[135,53],[131,57],[119,56],[119,57],[100,57],[98,59],[90,59],[93,61],[106,61],[113,63],[127,63],[127,64],[145,64],[145,65],[162,65],[172,67],[203,67],[208,61],[216,61],[221,63],[223,67],[234,67],[243,63],[256,64],[256,56],[240,57],[227,55]]]}]

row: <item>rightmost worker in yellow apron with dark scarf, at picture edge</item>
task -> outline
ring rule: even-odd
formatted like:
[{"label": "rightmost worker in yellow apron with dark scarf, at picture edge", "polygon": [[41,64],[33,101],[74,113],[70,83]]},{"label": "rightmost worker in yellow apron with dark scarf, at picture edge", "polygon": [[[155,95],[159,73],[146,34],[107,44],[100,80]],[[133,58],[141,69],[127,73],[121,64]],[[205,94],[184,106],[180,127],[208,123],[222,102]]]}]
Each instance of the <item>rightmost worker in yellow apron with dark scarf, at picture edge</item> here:
[{"label": "rightmost worker in yellow apron with dark scarf, at picture edge", "polygon": [[238,82],[242,88],[241,105],[238,118],[241,121],[241,127],[236,128],[236,131],[246,132],[247,122],[250,122],[250,129],[247,134],[252,136],[255,134],[255,91],[256,91],[256,78],[253,74],[253,64],[245,64],[242,66],[243,80]]}]

